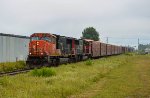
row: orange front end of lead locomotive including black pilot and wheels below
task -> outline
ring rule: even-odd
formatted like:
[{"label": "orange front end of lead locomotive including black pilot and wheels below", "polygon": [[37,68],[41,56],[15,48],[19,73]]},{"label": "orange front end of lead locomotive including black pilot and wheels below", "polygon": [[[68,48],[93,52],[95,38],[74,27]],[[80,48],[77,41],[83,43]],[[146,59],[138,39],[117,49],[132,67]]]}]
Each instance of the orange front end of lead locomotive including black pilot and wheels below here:
[{"label": "orange front end of lead locomotive including black pilot and wheels below", "polygon": [[26,62],[29,66],[49,64],[50,58],[59,55],[56,49],[56,36],[50,33],[34,33],[30,38],[29,55]]}]

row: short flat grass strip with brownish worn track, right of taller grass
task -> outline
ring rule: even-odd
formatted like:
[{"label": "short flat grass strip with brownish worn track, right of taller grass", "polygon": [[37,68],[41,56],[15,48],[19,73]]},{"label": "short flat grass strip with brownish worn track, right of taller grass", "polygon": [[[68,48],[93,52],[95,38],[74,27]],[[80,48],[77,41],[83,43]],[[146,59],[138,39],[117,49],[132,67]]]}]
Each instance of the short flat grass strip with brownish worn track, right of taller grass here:
[{"label": "short flat grass strip with brownish worn track, right of taller grass", "polygon": [[131,56],[88,90],[69,98],[150,98],[150,57]]}]

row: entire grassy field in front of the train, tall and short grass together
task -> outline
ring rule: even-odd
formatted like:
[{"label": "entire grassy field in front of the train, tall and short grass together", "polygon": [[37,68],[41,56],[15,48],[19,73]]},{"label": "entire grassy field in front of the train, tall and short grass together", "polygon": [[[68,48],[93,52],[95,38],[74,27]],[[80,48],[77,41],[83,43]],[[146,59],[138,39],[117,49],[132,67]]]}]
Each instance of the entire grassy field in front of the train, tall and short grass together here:
[{"label": "entire grassy field in front of the train, tall and short grass together", "polygon": [[[55,73],[46,77],[37,75],[37,72],[37,76],[29,72],[1,77],[0,98],[147,97],[150,94],[150,87],[146,86],[150,83],[149,59],[150,56],[120,55],[91,60],[92,66],[87,65],[89,61],[83,61],[46,68]],[[145,66],[141,69],[143,64]],[[44,72],[47,74],[47,71]]]}]

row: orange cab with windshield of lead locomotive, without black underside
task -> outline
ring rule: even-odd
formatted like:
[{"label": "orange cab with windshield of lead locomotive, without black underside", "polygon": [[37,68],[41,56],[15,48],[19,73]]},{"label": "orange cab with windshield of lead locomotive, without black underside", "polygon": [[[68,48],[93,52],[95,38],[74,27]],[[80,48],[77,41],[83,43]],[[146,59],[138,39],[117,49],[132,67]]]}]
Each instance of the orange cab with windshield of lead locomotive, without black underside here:
[{"label": "orange cab with windshield of lead locomotive, without black underside", "polygon": [[29,43],[30,56],[52,56],[56,54],[56,37],[48,33],[34,33]]}]

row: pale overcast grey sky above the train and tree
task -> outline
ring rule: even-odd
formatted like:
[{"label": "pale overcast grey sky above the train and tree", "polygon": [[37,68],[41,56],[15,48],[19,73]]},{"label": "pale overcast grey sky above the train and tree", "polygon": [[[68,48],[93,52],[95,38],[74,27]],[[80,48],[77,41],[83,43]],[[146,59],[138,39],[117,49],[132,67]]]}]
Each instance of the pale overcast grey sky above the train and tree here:
[{"label": "pale overcast grey sky above the train and tree", "polygon": [[[150,41],[150,0],[0,0],[0,32],[50,32],[80,38],[92,26],[102,41]],[[121,39],[124,38],[124,39]],[[126,39],[130,38],[130,39]],[[132,39],[135,38],[135,39]]]}]

